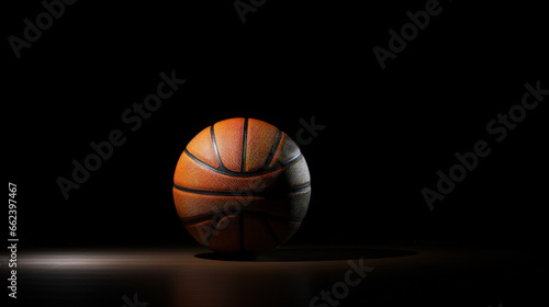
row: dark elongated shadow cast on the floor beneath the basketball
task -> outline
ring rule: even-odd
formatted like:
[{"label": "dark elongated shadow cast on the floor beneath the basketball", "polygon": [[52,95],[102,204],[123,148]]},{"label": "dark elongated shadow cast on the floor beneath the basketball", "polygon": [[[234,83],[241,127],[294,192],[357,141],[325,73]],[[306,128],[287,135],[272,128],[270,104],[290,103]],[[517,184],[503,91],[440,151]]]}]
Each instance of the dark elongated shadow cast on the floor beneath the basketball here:
[{"label": "dark elongated shadow cast on the floor beneath the basketball", "polygon": [[219,261],[290,262],[290,261],[336,261],[350,259],[381,259],[416,254],[410,250],[366,249],[366,248],[289,248],[278,249],[265,255],[224,254],[204,252],[195,258]]}]

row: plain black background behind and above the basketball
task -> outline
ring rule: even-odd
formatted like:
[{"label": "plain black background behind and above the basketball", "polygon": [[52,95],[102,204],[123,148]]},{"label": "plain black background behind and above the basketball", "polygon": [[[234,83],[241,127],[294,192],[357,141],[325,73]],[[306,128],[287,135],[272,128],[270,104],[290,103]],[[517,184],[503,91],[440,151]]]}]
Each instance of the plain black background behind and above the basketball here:
[{"label": "plain black background behind and above the basketball", "polygon": [[[202,128],[236,116],[294,139],[300,118],[325,126],[301,146],[313,196],[293,243],[541,247],[548,99],[501,144],[485,125],[526,82],[549,88],[547,16],[524,1],[441,1],[382,70],[372,48],[425,2],[269,0],[243,24],[233,1],[78,1],[20,59],[5,39],[20,247],[198,245],[173,206],[175,166]],[[4,13],[4,37],[44,11],[22,4]],[[131,132],[121,114],[172,70],[187,83]],[[113,129],[126,143],[66,201],[56,179]],[[429,211],[422,189],[479,139],[491,155]]]}]

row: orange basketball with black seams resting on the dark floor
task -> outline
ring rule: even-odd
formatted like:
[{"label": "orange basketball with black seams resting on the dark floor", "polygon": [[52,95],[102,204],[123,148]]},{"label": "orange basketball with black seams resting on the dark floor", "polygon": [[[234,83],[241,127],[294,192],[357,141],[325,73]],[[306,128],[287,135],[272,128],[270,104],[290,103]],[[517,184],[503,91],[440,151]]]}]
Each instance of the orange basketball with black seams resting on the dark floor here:
[{"label": "orange basketball with black seams resting on the dark floor", "polygon": [[310,197],[299,147],[254,118],[225,120],[200,132],[173,174],[184,227],[219,252],[258,254],[284,243],[300,227]]}]

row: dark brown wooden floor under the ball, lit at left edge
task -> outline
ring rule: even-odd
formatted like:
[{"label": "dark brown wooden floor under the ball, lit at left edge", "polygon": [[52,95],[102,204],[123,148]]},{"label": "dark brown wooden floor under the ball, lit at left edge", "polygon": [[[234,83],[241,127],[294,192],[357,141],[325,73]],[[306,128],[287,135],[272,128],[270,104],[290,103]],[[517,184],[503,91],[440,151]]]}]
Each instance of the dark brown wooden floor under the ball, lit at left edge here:
[{"label": "dark brown wooden floor under the ball, lit at left edge", "polygon": [[33,251],[20,253],[18,299],[10,303],[526,306],[546,291],[534,278],[547,276],[538,260],[526,251],[412,246],[288,247],[256,259],[225,259],[199,247]]}]

